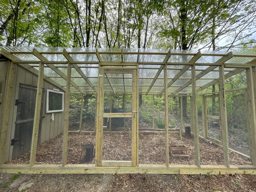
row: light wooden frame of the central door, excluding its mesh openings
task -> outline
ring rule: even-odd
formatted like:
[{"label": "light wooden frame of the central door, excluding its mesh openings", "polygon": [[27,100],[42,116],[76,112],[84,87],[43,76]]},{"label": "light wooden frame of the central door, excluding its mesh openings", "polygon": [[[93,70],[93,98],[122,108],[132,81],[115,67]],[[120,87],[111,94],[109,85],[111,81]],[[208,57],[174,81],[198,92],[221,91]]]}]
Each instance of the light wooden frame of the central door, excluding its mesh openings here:
[{"label": "light wooden frame of the central door, excluding its mesh openings", "polygon": [[[97,95],[97,113],[96,113],[96,152],[95,152],[95,166],[111,166],[111,167],[136,167],[137,166],[137,68],[134,67],[99,67],[98,75],[98,95]],[[131,113],[104,113],[104,79],[106,73],[125,73],[132,74],[132,112]],[[102,161],[102,138],[103,138],[103,118],[105,117],[131,117],[131,161]]]}]

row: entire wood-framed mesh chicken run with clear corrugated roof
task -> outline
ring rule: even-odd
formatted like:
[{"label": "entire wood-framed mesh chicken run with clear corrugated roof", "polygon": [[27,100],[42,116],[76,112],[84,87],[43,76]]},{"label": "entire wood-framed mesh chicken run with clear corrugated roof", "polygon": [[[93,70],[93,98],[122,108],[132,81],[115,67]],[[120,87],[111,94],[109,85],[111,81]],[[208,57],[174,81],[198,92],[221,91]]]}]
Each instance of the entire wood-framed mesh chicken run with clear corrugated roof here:
[{"label": "entire wood-framed mesh chicken run with clear corrugated roof", "polygon": [[256,173],[256,52],[0,50],[0,172]]}]

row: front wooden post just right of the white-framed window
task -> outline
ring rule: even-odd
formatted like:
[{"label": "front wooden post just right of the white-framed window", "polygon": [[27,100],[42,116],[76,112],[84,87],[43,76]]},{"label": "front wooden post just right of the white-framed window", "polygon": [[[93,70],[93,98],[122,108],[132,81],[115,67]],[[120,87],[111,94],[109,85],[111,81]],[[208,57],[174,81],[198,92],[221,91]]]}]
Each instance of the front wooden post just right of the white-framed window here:
[{"label": "front wooden post just right of the white-framed window", "polygon": [[64,104],[62,167],[67,165],[67,139],[68,139],[68,134],[69,134],[70,82],[71,82],[71,64],[67,63],[66,95],[65,95],[65,104]]}]

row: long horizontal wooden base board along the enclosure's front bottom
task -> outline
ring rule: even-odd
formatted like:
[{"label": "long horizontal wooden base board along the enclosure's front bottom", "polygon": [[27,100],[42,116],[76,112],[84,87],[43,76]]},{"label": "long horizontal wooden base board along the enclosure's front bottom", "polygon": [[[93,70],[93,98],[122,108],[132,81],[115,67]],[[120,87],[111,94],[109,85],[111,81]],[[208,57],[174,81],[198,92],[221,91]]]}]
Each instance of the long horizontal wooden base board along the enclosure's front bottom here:
[{"label": "long horizontal wooden base board along the enclosure's front bottom", "polygon": [[0,172],[11,174],[184,174],[184,175],[223,175],[223,174],[254,174],[255,166],[210,166],[201,165],[139,165],[138,167],[95,167],[94,165],[10,165],[0,166]]}]

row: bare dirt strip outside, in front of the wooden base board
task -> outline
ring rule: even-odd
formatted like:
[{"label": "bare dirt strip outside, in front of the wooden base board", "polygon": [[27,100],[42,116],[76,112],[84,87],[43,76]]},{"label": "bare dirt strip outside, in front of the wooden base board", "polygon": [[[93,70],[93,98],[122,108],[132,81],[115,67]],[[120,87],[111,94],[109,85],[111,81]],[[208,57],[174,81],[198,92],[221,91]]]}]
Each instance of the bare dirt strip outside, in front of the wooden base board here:
[{"label": "bare dirt strip outside, in front of the wooden base board", "polygon": [[[15,178],[17,177],[17,178]],[[14,181],[13,181],[14,180]],[[6,174],[1,192],[255,192],[255,175]]]}]

